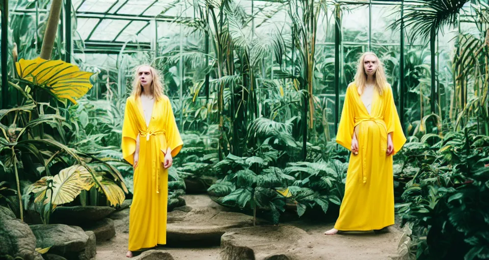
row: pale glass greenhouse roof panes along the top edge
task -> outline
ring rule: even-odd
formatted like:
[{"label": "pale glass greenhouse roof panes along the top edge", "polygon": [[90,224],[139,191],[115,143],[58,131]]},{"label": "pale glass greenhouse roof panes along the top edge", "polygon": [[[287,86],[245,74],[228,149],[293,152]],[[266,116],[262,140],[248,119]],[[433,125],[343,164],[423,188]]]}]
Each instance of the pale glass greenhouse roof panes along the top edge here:
[{"label": "pale glass greenhouse roof panes along the top edge", "polygon": [[[157,32],[158,38],[173,30],[168,22],[177,17],[194,17],[194,0],[71,0],[72,10],[76,16],[75,39],[85,43],[150,43]],[[13,1],[15,3],[15,1]],[[263,22],[283,22],[287,17],[286,10],[278,10],[281,0],[241,0],[237,3],[249,14],[253,14],[256,29]],[[366,5],[355,11],[355,15],[345,14],[346,17],[368,17],[368,4],[399,5],[400,0],[338,0],[344,5]],[[404,3],[417,3],[417,0],[405,0]],[[253,6],[253,7],[252,7]],[[21,9],[18,5],[11,5],[13,12],[28,12],[34,14],[36,9]],[[49,7],[47,7],[49,8]],[[253,9],[253,11],[252,11]],[[47,13],[49,10],[39,10]],[[358,16],[357,16],[358,17]],[[156,21],[156,26],[151,23]],[[368,26],[368,19],[365,26]],[[376,21],[380,23],[381,21]],[[351,26],[357,26],[351,23]],[[169,28],[172,27],[172,28]],[[348,23],[344,24],[348,27]],[[260,28],[261,27],[261,28]]]}]

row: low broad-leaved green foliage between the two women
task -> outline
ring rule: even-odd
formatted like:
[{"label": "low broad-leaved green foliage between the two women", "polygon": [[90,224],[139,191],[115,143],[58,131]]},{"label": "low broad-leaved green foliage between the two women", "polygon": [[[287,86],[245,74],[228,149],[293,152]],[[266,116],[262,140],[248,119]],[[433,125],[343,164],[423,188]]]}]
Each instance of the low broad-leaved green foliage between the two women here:
[{"label": "low broad-leaved green foliage between the two women", "polygon": [[283,152],[269,145],[260,147],[254,156],[229,154],[214,165],[216,175],[222,178],[208,189],[214,201],[226,207],[264,211],[275,224],[287,204],[294,205],[298,217],[308,208],[318,207],[327,214],[330,202],[340,205],[346,163],[298,162],[281,168],[277,156]]}]

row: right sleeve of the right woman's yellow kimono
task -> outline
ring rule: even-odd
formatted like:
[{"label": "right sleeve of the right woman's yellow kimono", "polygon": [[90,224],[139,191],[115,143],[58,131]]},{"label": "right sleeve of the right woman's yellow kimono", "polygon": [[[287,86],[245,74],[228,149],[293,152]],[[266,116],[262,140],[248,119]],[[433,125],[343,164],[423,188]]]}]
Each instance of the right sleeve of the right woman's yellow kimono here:
[{"label": "right sleeve of the right woman's yellow kimono", "polygon": [[402,146],[406,143],[406,137],[404,132],[402,132],[401,121],[399,120],[399,115],[397,114],[396,105],[394,103],[394,95],[392,94],[392,88],[390,85],[387,86],[385,96],[385,112],[384,121],[387,126],[387,133],[392,133],[392,143],[394,145],[394,154],[396,154]]}]

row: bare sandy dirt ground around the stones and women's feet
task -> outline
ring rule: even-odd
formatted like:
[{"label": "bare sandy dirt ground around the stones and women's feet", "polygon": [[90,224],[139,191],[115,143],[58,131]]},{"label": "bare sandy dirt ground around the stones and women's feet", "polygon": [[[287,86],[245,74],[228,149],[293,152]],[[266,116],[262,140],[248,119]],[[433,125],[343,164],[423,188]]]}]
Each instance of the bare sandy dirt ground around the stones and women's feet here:
[{"label": "bare sandy dirt ground around the stones and women's feet", "polygon": [[[209,206],[209,199],[205,195],[197,195],[198,198],[186,196],[186,201],[194,201],[199,204]],[[198,205],[192,205],[195,209]],[[328,259],[328,260],[353,260],[353,259],[397,259],[397,245],[402,232],[397,226],[390,226],[389,232],[384,234],[374,234],[373,232],[351,232],[341,233],[334,236],[324,236],[324,231],[331,229],[334,223],[330,224],[311,224],[303,221],[284,223],[293,225],[307,232],[307,237],[300,241],[301,245],[306,245],[310,250],[301,250],[301,259]],[[114,238],[97,245],[97,255],[95,259],[116,260],[127,259],[127,233],[118,232]],[[175,248],[160,246],[156,249],[165,250],[172,254],[175,260],[199,259],[215,260],[221,259],[220,246],[202,248]],[[292,248],[293,250],[293,248]],[[137,255],[134,255],[137,259]]]}]

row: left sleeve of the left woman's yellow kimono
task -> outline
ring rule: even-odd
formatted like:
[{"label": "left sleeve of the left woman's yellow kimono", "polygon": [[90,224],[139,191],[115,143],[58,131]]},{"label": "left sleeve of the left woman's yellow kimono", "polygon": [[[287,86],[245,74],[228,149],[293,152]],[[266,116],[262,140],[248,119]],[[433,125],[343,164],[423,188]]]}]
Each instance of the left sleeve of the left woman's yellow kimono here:
[{"label": "left sleeve of the left woman's yellow kimono", "polygon": [[136,138],[138,137],[138,129],[135,120],[134,105],[131,98],[127,98],[126,107],[124,110],[124,121],[122,124],[122,157],[134,164],[134,152],[136,151]]}]

